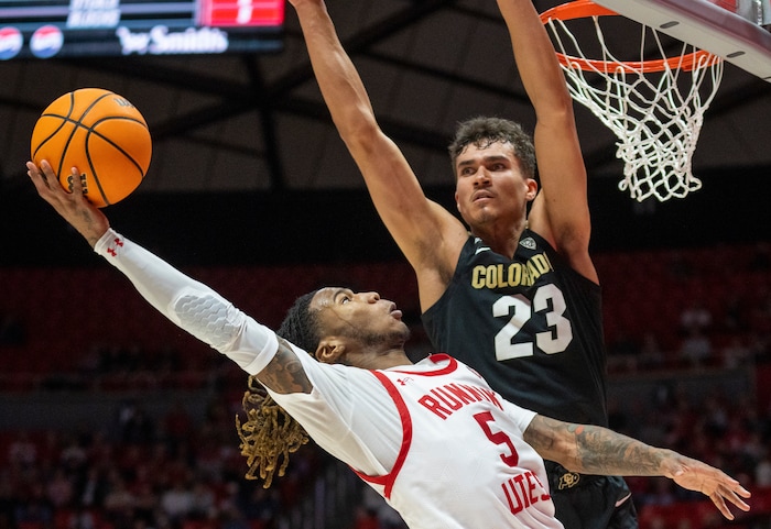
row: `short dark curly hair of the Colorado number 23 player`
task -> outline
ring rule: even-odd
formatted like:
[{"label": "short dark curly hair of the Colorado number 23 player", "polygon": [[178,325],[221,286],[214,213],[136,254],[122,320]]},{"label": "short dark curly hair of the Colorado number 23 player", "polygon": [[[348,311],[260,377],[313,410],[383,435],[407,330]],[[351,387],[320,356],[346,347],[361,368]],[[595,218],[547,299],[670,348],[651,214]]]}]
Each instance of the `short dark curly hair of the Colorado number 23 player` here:
[{"label": "short dark curly hair of the Colorado number 23 player", "polygon": [[522,129],[522,125],[511,120],[488,117],[471,118],[458,124],[455,139],[447,147],[453,163],[453,174],[455,174],[458,156],[468,145],[486,147],[496,142],[510,143],[524,176],[535,178],[535,147],[530,134]]}]

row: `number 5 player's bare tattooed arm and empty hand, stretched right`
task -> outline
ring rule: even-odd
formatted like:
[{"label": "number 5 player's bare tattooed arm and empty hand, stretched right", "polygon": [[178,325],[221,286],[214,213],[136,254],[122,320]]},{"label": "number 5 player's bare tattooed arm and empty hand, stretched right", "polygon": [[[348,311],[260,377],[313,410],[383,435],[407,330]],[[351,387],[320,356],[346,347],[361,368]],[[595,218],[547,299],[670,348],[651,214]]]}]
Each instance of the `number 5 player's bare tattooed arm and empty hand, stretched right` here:
[{"label": "number 5 player's bare tattooed arm and empty hand, stretched right", "polygon": [[726,500],[741,510],[749,510],[741,498],[749,498],[750,493],[723,471],[607,428],[574,425],[537,415],[524,431],[524,440],[543,459],[556,461],[573,472],[666,476],[684,488],[709,496],[729,520],[734,515]]}]

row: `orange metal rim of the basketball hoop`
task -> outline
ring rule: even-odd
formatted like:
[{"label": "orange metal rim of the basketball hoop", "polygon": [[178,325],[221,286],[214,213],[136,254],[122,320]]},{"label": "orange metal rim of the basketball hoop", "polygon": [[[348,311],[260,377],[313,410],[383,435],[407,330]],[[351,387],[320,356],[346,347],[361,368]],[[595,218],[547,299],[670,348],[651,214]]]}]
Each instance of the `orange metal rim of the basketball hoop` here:
[{"label": "orange metal rim of the basketball hoop", "polygon": [[[549,23],[550,20],[575,20],[575,19],[587,19],[589,16],[619,16],[616,11],[611,11],[608,8],[596,4],[591,0],[575,0],[573,2],[563,3],[562,5],[556,5],[552,9],[547,9],[541,13],[541,22],[544,24]],[[565,55],[557,52],[557,59],[560,64],[567,68],[575,68],[576,66],[584,71],[616,71],[618,69],[626,69],[630,71],[663,71],[665,69],[682,69],[685,71],[693,70],[699,65],[704,64],[704,60],[710,57],[713,54],[698,49],[693,53],[680,57],[644,60],[644,62],[606,62],[597,59],[587,59],[582,57],[574,57],[572,55]]]}]

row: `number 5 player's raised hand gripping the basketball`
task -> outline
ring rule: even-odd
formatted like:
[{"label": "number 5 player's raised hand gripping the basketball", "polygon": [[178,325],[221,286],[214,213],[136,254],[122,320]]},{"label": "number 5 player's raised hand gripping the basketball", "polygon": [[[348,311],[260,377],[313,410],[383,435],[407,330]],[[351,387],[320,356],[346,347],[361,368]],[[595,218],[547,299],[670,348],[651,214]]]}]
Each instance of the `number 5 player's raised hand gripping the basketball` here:
[{"label": "number 5 player's raised hand gripping the basketball", "polygon": [[84,197],[80,174],[76,167],[72,168],[72,192],[59,185],[54,169],[46,161],[41,162],[40,167],[33,162],[28,162],[26,174],[35,185],[37,195],[86,238],[91,246],[110,227],[105,213]]}]

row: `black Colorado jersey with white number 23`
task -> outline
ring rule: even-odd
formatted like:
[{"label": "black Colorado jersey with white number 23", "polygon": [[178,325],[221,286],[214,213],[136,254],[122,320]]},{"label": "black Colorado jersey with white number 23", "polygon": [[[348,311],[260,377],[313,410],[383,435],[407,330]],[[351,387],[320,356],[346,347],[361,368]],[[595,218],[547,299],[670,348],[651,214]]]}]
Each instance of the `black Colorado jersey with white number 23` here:
[{"label": "black Colorado jersey with white number 23", "polygon": [[422,318],[435,352],[474,367],[512,403],[607,427],[601,316],[599,285],[525,230],[513,260],[469,236]]}]

